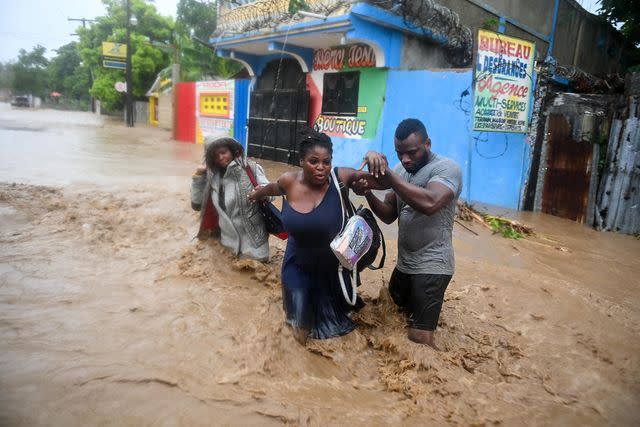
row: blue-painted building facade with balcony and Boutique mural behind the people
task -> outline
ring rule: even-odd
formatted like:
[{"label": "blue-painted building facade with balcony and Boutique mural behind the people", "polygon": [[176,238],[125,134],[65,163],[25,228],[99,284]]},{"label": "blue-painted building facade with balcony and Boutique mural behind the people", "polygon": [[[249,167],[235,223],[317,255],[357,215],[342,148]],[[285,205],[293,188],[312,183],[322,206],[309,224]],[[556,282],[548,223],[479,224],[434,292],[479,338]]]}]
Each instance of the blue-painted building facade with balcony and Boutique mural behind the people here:
[{"label": "blue-painted building facade with balcony and Boutique mural behind the people", "polygon": [[[475,35],[496,24],[502,34],[536,43],[538,60],[557,52],[578,61],[580,50],[554,43],[558,29],[566,30],[558,24],[562,5],[575,2],[545,0],[550,9],[534,9],[497,0],[308,0],[298,10],[299,3],[218,3],[210,44],[251,78],[241,141],[249,155],[297,164],[297,130],[312,126],[331,136],[335,165],[358,166],[368,150],[395,164],[395,127],[415,117],[432,149],[462,167],[464,199],[522,206],[532,155],[527,133],[473,130]],[[586,40],[592,28],[576,25]],[[596,65],[615,69],[607,61]],[[529,77],[535,80],[533,72]],[[532,100],[530,90],[522,102]]]}]

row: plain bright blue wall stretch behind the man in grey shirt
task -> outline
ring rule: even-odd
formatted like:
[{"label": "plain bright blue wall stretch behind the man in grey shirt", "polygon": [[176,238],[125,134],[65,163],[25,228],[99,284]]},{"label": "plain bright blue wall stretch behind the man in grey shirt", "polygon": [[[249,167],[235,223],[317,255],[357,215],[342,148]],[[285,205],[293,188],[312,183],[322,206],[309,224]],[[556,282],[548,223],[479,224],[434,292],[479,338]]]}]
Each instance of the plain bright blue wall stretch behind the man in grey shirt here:
[{"label": "plain bright blue wall stretch behind the man in grey shirt", "polygon": [[427,127],[433,151],[460,165],[462,198],[518,209],[529,169],[526,135],[471,131],[472,80],[470,69],[390,70],[375,138],[332,138],[334,163],[357,167],[368,150],[376,150],[383,152],[392,166],[397,165],[395,128],[401,120],[414,117]]}]

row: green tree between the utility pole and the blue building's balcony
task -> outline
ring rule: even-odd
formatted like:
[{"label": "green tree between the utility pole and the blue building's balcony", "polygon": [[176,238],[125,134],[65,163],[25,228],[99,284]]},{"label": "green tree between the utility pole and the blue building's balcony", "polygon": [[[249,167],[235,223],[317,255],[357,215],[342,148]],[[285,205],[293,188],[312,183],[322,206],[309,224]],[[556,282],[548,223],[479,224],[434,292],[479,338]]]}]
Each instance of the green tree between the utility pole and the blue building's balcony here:
[{"label": "green tree between the utility pole and the blue building's balcony", "polygon": [[219,58],[211,47],[193,40],[192,36],[208,42],[215,27],[216,4],[214,1],[180,0],[178,2],[175,44],[180,51],[179,62],[183,80],[227,78],[242,69],[237,62]]}]

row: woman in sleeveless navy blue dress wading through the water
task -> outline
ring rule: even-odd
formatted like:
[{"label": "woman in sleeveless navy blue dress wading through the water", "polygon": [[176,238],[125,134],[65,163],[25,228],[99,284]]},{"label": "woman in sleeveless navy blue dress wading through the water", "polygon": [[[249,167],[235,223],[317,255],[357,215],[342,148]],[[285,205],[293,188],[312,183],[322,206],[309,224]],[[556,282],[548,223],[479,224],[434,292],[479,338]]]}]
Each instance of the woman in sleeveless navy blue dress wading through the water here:
[{"label": "woman in sleeveless navy blue dress wading through the water", "polygon": [[[308,130],[300,143],[299,172],[287,172],[276,183],[259,187],[253,201],[266,196],[286,196],[282,222],[289,233],[282,262],[282,299],[287,323],[295,338],[326,339],[355,328],[353,310],[344,299],[338,280],[338,260],[329,243],[342,227],[340,194],[331,181],[333,146],[324,133]],[[379,188],[368,172],[336,168],[336,175],[350,187],[361,178]],[[351,286],[348,272],[344,278]],[[350,290],[348,290],[350,291]]]}]

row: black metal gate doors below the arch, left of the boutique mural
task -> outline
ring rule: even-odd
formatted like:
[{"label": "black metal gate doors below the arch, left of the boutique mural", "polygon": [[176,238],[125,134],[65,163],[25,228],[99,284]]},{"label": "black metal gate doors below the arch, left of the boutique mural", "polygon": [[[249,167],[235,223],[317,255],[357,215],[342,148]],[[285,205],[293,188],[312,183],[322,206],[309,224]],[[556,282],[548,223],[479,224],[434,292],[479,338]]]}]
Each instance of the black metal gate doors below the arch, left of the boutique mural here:
[{"label": "black metal gate doors below the arch, left of the boutique mural", "polygon": [[308,91],[254,90],[249,108],[247,154],[260,159],[298,164],[296,136],[308,121]]}]

